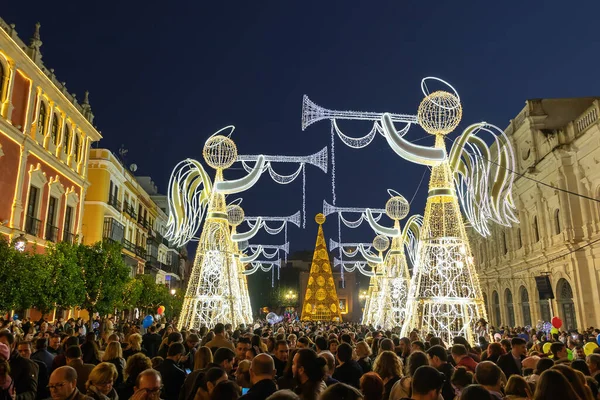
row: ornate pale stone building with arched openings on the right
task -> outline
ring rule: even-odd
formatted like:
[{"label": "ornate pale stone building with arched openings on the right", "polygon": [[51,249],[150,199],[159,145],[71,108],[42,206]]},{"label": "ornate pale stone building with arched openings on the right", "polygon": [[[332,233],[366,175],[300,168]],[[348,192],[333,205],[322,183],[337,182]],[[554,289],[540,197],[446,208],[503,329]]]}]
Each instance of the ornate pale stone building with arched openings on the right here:
[{"label": "ornate pale stone building with arched openings on the right", "polygon": [[[513,186],[520,224],[495,226],[488,238],[470,232],[493,325],[535,326],[552,315],[566,329],[600,323],[599,117],[599,98],[528,100],[506,129],[518,174],[531,178]],[[534,277],[544,274],[551,303],[539,300]]]}]

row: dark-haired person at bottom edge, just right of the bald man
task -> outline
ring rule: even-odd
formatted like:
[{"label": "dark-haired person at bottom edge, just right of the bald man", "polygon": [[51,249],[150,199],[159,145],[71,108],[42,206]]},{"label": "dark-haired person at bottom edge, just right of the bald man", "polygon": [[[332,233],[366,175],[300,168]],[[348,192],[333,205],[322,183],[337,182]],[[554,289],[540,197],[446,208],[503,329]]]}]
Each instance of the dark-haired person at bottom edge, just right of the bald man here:
[{"label": "dark-haired person at bottom edge, just right of the bald man", "polygon": [[311,349],[301,349],[294,355],[292,373],[297,386],[294,389],[302,400],[317,400],[325,391],[325,360]]}]

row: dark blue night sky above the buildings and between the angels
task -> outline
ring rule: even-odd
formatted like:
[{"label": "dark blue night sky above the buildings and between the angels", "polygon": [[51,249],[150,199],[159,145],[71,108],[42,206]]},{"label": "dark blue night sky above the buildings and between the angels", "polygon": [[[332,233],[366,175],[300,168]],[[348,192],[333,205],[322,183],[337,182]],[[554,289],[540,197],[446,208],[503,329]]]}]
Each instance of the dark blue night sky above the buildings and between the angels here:
[{"label": "dark blue night sky above the buildings and between the angels", "polygon": [[[300,129],[305,93],[329,108],[415,113],[420,79],[434,75],[458,89],[462,127],[502,128],[528,98],[600,95],[598,1],[5,3],[0,16],[23,40],[42,23],[44,62],[59,80],[80,99],[90,91],[99,145],[116,152],[124,144],[138,174],[162,191],[172,167],[200,158],[206,138],[227,124],[237,126],[240,153],[304,155],[329,145],[327,122]],[[341,126],[354,136],[368,130]],[[409,133],[423,136],[418,127]],[[410,199],[423,173],[381,137],[362,150],[338,140],[336,150],[340,205],[382,207],[388,187]],[[331,200],[329,176],[309,168],[307,179],[309,223],[290,230],[293,249],[314,246],[314,214]],[[425,187],[413,212],[423,212]],[[301,191],[300,181],[286,187],[264,176],[243,206],[291,214]],[[368,229],[344,232],[372,238]],[[336,234],[335,223],[325,233]]]}]

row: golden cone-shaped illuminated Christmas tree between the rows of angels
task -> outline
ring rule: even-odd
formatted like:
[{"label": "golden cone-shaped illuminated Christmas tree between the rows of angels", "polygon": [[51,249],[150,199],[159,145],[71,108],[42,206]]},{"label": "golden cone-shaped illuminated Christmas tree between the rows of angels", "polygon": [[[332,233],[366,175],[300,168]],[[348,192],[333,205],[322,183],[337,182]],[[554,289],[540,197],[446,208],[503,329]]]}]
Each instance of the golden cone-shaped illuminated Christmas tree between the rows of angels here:
[{"label": "golden cone-shaped illuminated Christmas tree between the rows of angels", "polygon": [[302,321],[341,321],[340,301],[335,291],[329,252],[323,235],[325,216],[319,213],[315,221],[319,224],[319,231],[302,305]]}]

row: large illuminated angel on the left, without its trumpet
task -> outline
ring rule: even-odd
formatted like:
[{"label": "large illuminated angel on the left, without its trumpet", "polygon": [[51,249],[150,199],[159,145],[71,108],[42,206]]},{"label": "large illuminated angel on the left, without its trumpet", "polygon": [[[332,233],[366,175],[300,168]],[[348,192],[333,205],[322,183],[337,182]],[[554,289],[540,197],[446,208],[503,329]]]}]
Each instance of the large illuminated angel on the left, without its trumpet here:
[{"label": "large illuminated angel on the left, without its trumpet", "polygon": [[213,327],[218,322],[235,326],[245,322],[225,195],[252,187],[262,173],[264,159],[258,157],[256,165],[247,176],[238,180],[224,180],[223,170],[235,162],[237,148],[233,140],[219,133],[223,130],[230,130],[231,133],[233,129],[233,126],[223,128],[204,144],[204,161],[216,169],[214,184],[202,164],[192,159],[180,162],[169,182],[169,222],[166,235],[169,240],[182,246],[197,239],[195,235],[206,211],[178,320],[179,329]]}]

